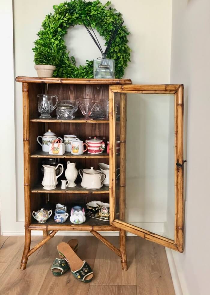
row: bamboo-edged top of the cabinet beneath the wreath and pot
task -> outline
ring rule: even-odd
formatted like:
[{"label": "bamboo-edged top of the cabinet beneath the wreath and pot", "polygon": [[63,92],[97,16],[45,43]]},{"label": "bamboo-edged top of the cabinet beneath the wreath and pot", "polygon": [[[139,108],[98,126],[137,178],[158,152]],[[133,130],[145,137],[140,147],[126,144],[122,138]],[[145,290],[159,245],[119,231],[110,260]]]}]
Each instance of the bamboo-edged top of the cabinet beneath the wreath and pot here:
[{"label": "bamboo-edged top of the cabinet beneath the wreath and pot", "polygon": [[131,79],[72,79],[72,78],[41,78],[16,77],[16,82],[22,83],[57,83],[57,84],[131,84]]}]

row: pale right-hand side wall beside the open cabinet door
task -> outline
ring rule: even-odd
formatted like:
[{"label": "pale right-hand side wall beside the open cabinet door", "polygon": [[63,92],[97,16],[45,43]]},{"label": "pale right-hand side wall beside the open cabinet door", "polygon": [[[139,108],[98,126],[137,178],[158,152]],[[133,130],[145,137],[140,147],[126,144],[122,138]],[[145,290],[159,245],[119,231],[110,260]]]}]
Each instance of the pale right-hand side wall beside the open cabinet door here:
[{"label": "pale right-hand side wall beside the open cabinet door", "polygon": [[209,12],[209,0],[173,1],[171,83],[184,83],[187,159],[185,247],[173,257],[183,295],[209,294]]}]

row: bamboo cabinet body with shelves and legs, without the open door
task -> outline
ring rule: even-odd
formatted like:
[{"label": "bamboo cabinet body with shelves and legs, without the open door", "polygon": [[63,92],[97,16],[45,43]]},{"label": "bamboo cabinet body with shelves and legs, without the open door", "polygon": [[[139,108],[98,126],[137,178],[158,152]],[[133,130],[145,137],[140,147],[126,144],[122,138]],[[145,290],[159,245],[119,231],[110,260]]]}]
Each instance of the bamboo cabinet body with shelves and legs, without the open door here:
[{"label": "bamboo cabinet body with shelves and legs, without the open door", "polygon": [[[52,196],[53,204],[55,202],[61,203],[67,201],[66,205],[70,206],[72,202],[77,202],[78,197],[81,196],[84,202],[87,200],[104,200],[111,202],[111,195],[108,187],[103,187],[100,190],[87,190],[78,185],[75,188],[68,188],[61,190],[56,188],[52,191],[44,191],[41,183],[40,168],[41,159],[43,158],[60,158],[66,164],[68,159],[74,159],[76,166],[82,165],[82,168],[88,168],[88,166],[97,166],[100,160],[110,161],[110,155],[102,153],[98,155],[83,154],[83,155],[71,155],[71,153],[65,153],[64,155],[48,155],[41,151],[40,146],[36,141],[38,135],[42,135],[48,128],[55,129],[60,136],[64,134],[73,134],[78,132],[82,140],[85,140],[88,136],[106,136],[109,140],[109,121],[94,119],[91,121],[80,120],[79,118],[74,120],[57,120],[55,117],[52,119],[40,119],[37,110],[38,93],[49,93],[58,96],[58,99],[77,99],[80,97],[93,97],[96,100],[100,98],[107,98],[109,93],[109,85],[121,85],[131,84],[130,79],[60,79],[60,78],[37,78],[37,77],[17,77],[17,82],[22,83],[22,98],[23,98],[23,146],[24,146],[24,203],[25,203],[25,245],[22,254],[22,260],[20,269],[26,269],[28,258],[37,249],[42,247],[48,242],[58,230],[69,231],[89,231],[97,239],[101,240],[107,247],[114,251],[119,257],[121,257],[122,269],[127,270],[127,260],[125,251],[125,231],[115,227],[109,222],[98,222],[95,219],[86,219],[84,224],[75,225],[70,222],[63,224],[56,224],[54,221],[41,223],[34,221],[32,218],[32,211],[41,209],[43,201],[47,200],[46,193]],[[55,116],[55,113],[54,115]],[[85,125],[84,125],[85,124]],[[48,126],[49,125],[49,126]],[[50,127],[51,126],[51,127]],[[63,133],[71,132],[71,133]],[[101,134],[103,133],[104,134]],[[80,136],[77,134],[77,136]],[[87,136],[87,137],[86,137]],[[109,162],[108,162],[109,163]],[[86,166],[87,167],[86,167]],[[64,166],[65,170],[66,166]],[[98,167],[96,167],[97,169]],[[77,167],[77,170],[79,168]],[[64,176],[64,174],[62,174]],[[81,181],[80,181],[81,182]],[[78,196],[80,194],[80,196]],[[55,197],[54,197],[55,196]],[[96,197],[95,197],[96,196]],[[55,201],[54,198],[57,200]],[[102,198],[102,199],[101,199]],[[61,201],[60,201],[61,200]],[[97,199],[96,199],[97,200]],[[107,202],[106,202],[107,203]],[[84,203],[85,204],[85,203]],[[37,208],[37,209],[35,209]],[[34,248],[31,247],[31,231],[41,230],[43,231],[43,239]],[[98,231],[118,231],[120,248],[116,248],[112,245],[104,236],[98,233]],[[88,257],[87,257],[88,258]]]}]

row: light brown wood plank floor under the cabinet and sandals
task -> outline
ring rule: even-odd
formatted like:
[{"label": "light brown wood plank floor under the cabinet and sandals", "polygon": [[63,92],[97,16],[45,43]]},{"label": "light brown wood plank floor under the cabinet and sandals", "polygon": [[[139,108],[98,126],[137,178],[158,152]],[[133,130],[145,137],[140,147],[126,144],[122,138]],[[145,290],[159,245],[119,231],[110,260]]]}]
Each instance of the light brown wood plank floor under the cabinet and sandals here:
[{"label": "light brown wood plank floor under the cabinet and sandals", "polygon": [[[56,245],[79,240],[78,256],[94,272],[89,284],[77,281],[70,272],[55,277],[50,271],[58,257]],[[119,237],[106,237],[119,247]],[[42,239],[32,236],[32,246]],[[175,295],[165,248],[140,237],[127,237],[128,271],[120,258],[92,236],[54,236],[29,257],[26,270],[19,269],[23,236],[0,236],[1,295]]]}]

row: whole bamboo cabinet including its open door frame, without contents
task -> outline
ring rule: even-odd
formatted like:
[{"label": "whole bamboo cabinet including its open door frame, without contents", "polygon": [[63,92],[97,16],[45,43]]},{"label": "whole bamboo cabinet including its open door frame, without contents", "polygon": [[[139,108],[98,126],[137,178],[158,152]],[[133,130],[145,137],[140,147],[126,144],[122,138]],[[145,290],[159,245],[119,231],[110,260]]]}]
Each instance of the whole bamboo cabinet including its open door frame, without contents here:
[{"label": "whole bamboo cabinet including its open door frame, without contents", "polygon": [[[114,251],[121,257],[122,269],[127,270],[127,258],[125,249],[125,233],[129,231],[139,235],[145,239],[157,242],[161,245],[170,247],[172,249],[183,251],[183,85],[130,85],[130,79],[60,79],[60,78],[36,78],[36,77],[17,77],[17,82],[22,83],[22,97],[23,97],[23,145],[24,145],[24,203],[25,203],[25,245],[21,260],[20,269],[26,268],[28,258],[37,249],[43,246],[58,232],[64,231],[89,231],[97,239],[101,240],[107,247]],[[116,149],[113,142],[115,140],[116,132],[116,113],[114,105],[114,94],[119,92],[121,100],[120,117],[118,123],[121,129],[120,134],[120,155],[116,155]],[[109,95],[110,100],[110,119],[105,120],[91,120],[83,121],[74,119],[72,121],[61,121],[56,118],[40,119],[37,110],[37,94],[49,93],[58,95],[61,98],[68,99],[69,96],[73,99],[78,97],[94,97],[107,98]],[[120,171],[120,218],[125,217],[125,191],[126,191],[126,177],[125,177],[125,164],[126,164],[126,121],[122,118],[126,117],[127,96],[126,93],[173,93],[175,94],[175,192],[176,192],[176,227],[175,227],[175,240],[170,240],[158,236],[149,231],[132,226],[118,219],[115,219],[115,191],[116,191],[116,159],[123,167]],[[83,95],[83,96],[82,96]],[[54,114],[55,116],[55,114]],[[84,125],[85,124],[85,125]],[[74,156],[70,153],[64,155],[47,155],[41,152],[41,148],[36,141],[38,135],[44,134],[48,128],[55,129],[58,136],[64,134],[75,134],[78,132],[82,140],[85,140],[90,135],[103,136],[106,135],[110,140],[110,154],[103,153],[101,155],[79,155]],[[64,131],[65,130],[65,131]],[[64,133],[71,132],[71,133]],[[95,133],[96,132],[96,133]],[[101,133],[105,134],[101,134]],[[77,134],[77,136],[80,136]],[[75,159],[77,164],[83,165],[82,168],[88,166],[97,166],[100,159],[110,164],[110,187],[103,187],[100,190],[86,190],[77,186],[76,189],[68,188],[62,191],[56,188],[52,191],[44,191],[41,187],[40,168],[41,159],[43,158],[60,158],[64,164],[68,159]],[[90,165],[91,163],[91,165]],[[87,166],[87,167],[86,167]],[[64,166],[65,169],[66,166]],[[79,169],[77,167],[77,169]],[[97,167],[96,167],[97,169]],[[84,202],[87,200],[94,200],[97,196],[99,200],[109,200],[110,202],[110,224],[87,221],[84,224],[75,225],[70,222],[64,224],[56,224],[54,221],[39,224],[32,218],[32,211],[41,209],[43,200],[47,200],[46,193],[52,197],[52,203],[67,202],[70,205],[74,200],[80,200],[81,196]],[[78,196],[80,194],[80,196]],[[96,197],[95,197],[96,196]],[[104,198],[104,199],[103,199]],[[108,198],[108,199],[107,199]],[[105,202],[107,203],[107,202]],[[85,203],[84,203],[85,204]],[[37,208],[37,209],[36,209]],[[43,231],[43,239],[34,248],[31,247],[31,231]],[[120,247],[119,249],[112,245],[104,236],[98,231],[118,231]]]}]

